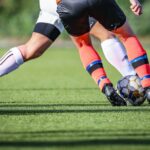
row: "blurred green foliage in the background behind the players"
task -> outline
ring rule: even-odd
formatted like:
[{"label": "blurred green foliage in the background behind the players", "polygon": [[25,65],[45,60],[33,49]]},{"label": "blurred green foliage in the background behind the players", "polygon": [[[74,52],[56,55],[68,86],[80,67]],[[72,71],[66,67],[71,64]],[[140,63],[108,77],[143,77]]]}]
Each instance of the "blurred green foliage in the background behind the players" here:
[{"label": "blurred green foliage in the background behind the players", "polygon": [[[130,11],[128,0],[116,1],[126,13],[134,31],[141,36],[150,36],[150,0],[141,0],[143,15],[140,17]],[[0,0],[0,36],[29,36],[38,14],[38,0]]]}]

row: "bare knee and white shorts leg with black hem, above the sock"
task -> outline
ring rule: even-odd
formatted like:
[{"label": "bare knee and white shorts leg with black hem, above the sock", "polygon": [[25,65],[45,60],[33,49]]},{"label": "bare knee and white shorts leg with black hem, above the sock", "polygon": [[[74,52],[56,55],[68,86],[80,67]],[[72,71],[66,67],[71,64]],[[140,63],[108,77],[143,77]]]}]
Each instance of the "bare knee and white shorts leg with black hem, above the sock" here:
[{"label": "bare knee and white shorts leg with black hem, above the sock", "polygon": [[40,0],[40,13],[31,39],[19,46],[25,60],[41,56],[61,34],[64,27],[56,12],[56,1]]}]

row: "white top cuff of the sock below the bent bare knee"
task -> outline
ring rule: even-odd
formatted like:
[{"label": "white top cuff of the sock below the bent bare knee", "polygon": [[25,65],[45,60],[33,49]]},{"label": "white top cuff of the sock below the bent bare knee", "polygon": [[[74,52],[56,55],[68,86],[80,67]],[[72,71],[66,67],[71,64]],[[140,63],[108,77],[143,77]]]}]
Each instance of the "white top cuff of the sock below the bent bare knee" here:
[{"label": "white top cuff of the sock below the bent bare knee", "polygon": [[18,65],[21,65],[24,63],[24,60],[23,60],[23,57],[22,57],[22,54],[21,54],[19,48],[14,47],[14,48],[10,49],[10,51],[13,53],[13,55],[15,57],[15,61]]}]

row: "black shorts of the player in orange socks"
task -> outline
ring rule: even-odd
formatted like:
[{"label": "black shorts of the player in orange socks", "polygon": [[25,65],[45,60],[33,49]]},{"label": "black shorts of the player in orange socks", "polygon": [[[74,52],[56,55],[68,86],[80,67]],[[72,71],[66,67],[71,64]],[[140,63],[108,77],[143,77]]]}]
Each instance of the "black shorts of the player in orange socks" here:
[{"label": "black shorts of the player in orange socks", "polygon": [[126,21],[115,0],[62,0],[57,12],[67,32],[74,36],[89,32],[89,16],[110,31],[121,27]]}]

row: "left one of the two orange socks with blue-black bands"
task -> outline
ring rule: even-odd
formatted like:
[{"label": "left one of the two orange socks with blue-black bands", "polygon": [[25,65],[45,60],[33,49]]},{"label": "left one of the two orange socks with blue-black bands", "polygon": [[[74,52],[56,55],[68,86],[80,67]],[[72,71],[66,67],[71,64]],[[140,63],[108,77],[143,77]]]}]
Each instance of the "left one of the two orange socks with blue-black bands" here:
[{"label": "left one of the two orange socks with blue-black bands", "polygon": [[106,76],[101,58],[93,47],[84,44],[79,48],[79,54],[84,68],[92,76],[101,90],[105,84],[111,83]]}]

